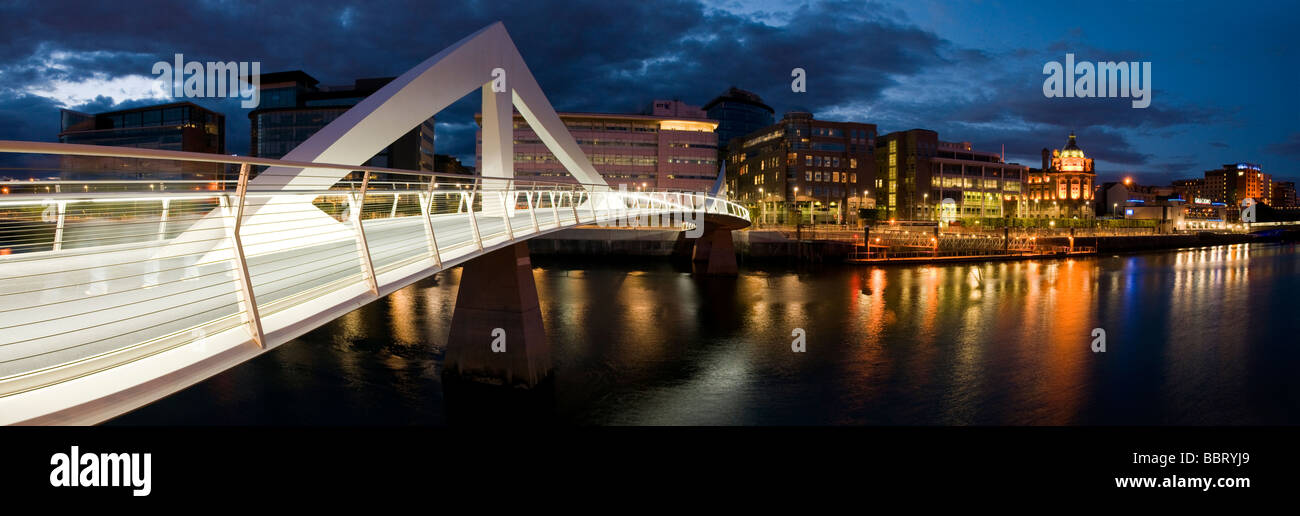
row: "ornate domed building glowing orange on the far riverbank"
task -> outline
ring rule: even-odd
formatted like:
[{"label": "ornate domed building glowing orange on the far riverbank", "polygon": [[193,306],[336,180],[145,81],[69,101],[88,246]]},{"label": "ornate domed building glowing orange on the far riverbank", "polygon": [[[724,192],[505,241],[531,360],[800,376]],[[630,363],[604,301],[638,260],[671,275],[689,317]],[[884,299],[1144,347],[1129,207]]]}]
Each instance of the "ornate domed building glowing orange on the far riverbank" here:
[{"label": "ornate domed building glowing orange on the far riverbank", "polygon": [[1097,173],[1092,159],[1075,142],[1074,133],[1063,148],[1043,149],[1043,168],[1028,173],[1027,216],[1034,218],[1093,218],[1093,182]]}]

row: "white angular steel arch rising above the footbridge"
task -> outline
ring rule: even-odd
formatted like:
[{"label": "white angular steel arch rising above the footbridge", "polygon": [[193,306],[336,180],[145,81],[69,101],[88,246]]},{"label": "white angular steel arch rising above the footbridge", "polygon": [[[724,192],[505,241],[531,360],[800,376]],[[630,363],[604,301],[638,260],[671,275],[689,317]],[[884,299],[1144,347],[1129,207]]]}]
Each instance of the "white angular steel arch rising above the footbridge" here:
[{"label": "white angular steel arch rising above the footbridge", "polygon": [[[504,83],[504,91],[494,91],[494,86],[500,82]],[[478,169],[484,177],[484,188],[507,190],[508,179],[515,175],[514,105],[585,190],[610,190],[568,133],[555,108],[546,100],[502,22],[480,29],[407,70],[295,147],[283,160],[361,165],[412,127],[474,90],[482,94],[484,152]],[[348,170],[339,169],[273,166],[257,174],[248,185],[260,191],[286,192],[328,188],[347,173]],[[601,200],[606,198],[602,196]],[[309,199],[295,196],[250,199],[244,208],[250,217],[246,224],[276,229],[261,237],[251,235],[246,242],[250,253],[282,251],[285,237],[325,238],[330,217],[325,213],[302,214],[307,205]],[[495,216],[500,214],[499,209],[511,211],[491,203],[485,212]],[[298,214],[290,217],[289,213]],[[199,231],[220,225],[217,217],[208,217],[195,225],[195,231],[160,248],[157,256],[211,250],[212,244]]]}]

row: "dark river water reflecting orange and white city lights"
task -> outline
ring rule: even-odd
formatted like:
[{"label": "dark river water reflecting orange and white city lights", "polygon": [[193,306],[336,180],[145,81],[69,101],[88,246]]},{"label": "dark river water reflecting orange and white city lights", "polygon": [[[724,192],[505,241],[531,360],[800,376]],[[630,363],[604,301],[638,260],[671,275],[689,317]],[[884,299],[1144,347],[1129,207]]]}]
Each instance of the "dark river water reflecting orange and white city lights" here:
[{"label": "dark river water reflecting orange and white city lights", "polygon": [[[909,266],[534,257],[580,425],[1300,422],[1300,247]],[[110,424],[442,425],[460,270]],[[1093,352],[1095,329],[1106,351]],[[806,351],[793,352],[802,329]]]}]

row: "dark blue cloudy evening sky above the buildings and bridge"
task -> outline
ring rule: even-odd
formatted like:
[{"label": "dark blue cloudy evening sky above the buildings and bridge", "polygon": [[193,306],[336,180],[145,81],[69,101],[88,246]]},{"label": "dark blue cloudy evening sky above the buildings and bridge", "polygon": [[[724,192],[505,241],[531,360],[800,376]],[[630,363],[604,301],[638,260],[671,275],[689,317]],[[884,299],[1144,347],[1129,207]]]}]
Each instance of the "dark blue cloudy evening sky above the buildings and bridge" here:
[{"label": "dark blue cloudy evening sky above the buildings and bridge", "polygon": [[[933,129],[1031,166],[1075,130],[1108,179],[1236,161],[1300,175],[1294,1],[17,1],[0,6],[0,139],[56,139],[60,107],[159,103],[152,64],[177,52],[338,84],[398,75],[497,19],[559,110],[702,104],[738,86],[777,112]],[[1043,65],[1067,52],[1150,61],[1150,108],[1044,97]],[[806,94],[789,90],[796,66]],[[247,110],[198,101],[228,114],[228,146],[246,153]],[[473,159],[476,109],[439,114],[439,152]]]}]

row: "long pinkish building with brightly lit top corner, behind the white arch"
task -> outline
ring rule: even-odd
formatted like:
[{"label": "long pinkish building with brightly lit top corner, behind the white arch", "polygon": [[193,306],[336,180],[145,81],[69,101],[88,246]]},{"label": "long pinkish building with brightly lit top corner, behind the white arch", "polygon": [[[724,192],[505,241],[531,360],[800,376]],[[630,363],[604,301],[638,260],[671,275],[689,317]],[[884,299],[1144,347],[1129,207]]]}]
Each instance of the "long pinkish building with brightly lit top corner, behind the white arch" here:
[{"label": "long pinkish building with brightly lit top corner, behind the white arch", "polygon": [[[708,191],[718,181],[718,122],[679,100],[655,100],[650,114],[559,113],[597,172],[614,188]],[[482,113],[476,162],[482,162]],[[515,114],[515,177],[577,182]]]}]

